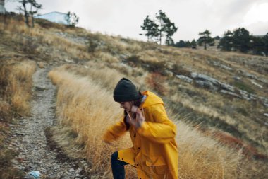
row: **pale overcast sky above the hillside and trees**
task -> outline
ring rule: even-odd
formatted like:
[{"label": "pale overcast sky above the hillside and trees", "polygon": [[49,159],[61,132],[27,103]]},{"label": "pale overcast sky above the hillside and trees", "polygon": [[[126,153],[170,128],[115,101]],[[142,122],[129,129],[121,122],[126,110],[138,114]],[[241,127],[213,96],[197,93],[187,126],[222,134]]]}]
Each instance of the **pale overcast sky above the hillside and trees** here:
[{"label": "pale overcast sky above the hillside and trees", "polygon": [[[78,26],[92,32],[145,40],[140,25],[160,9],[178,27],[173,40],[197,40],[206,29],[214,36],[226,30],[246,28],[251,35],[268,33],[268,0],[37,0],[39,13],[75,12]],[[7,11],[18,3],[6,2]],[[18,12],[18,11],[17,11]]]}]

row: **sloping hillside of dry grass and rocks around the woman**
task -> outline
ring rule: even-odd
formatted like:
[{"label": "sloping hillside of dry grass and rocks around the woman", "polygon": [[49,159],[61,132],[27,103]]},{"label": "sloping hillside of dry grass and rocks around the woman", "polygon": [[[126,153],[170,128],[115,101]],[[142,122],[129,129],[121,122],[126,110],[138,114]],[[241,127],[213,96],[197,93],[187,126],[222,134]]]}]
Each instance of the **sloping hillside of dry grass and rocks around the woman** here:
[{"label": "sloping hillside of dry grass and rocks around the woman", "polygon": [[[27,123],[38,115],[26,104],[41,94],[38,91],[51,88],[44,87],[42,77],[38,77],[37,86],[35,81],[28,83],[25,94],[29,98],[14,99],[14,94],[26,95],[11,93],[18,87],[12,88],[8,76],[26,63],[26,71],[31,67],[32,72],[25,79],[23,73],[14,77],[18,83],[24,84],[35,71],[44,69],[42,76],[49,74],[57,88],[49,92],[54,95],[49,103],[56,105],[49,108],[54,108],[51,115],[56,118],[51,125],[42,123],[47,137],[43,140],[71,160],[87,160],[87,166],[83,164],[80,169],[81,178],[85,173],[110,178],[106,170],[109,154],[130,145],[128,137],[113,146],[100,139],[106,127],[121,116],[112,91],[122,76],[138,84],[141,91],[154,91],[164,99],[169,117],[178,126],[179,178],[267,177],[268,57],[166,47],[48,21],[37,21],[36,27],[29,29],[20,16],[1,21],[0,39],[1,158],[15,158],[13,163],[8,159],[0,163],[0,171],[6,167],[11,171],[6,175],[23,175],[21,172],[30,170],[30,156],[24,154],[22,164],[18,164],[20,153],[10,156],[12,147],[7,146],[27,149],[20,142],[15,144],[14,137],[10,141],[7,138],[20,129],[17,125],[22,118]],[[129,169],[128,177],[133,178],[135,172]]]}]

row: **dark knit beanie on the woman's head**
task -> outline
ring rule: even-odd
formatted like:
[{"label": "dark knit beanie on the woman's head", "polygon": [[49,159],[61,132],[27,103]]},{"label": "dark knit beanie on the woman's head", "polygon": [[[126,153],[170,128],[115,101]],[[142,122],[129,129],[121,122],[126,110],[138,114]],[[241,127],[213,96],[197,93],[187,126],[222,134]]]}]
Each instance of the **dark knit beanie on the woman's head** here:
[{"label": "dark knit beanie on the woman's head", "polygon": [[140,93],[129,79],[123,78],[118,81],[116,88],[114,88],[114,100],[116,102],[138,100],[138,98],[140,98]]}]

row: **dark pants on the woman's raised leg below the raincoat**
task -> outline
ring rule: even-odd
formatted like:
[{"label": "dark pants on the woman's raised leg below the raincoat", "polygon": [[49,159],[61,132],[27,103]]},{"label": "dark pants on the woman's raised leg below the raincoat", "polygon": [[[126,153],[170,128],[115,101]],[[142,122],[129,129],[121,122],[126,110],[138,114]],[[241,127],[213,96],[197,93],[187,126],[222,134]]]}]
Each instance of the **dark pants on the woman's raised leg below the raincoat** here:
[{"label": "dark pants on the woman's raised leg below the raincoat", "polygon": [[111,154],[111,171],[113,171],[114,179],[124,179],[125,178],[125,168],[124,166],[128,163],[124,161],[118,161],[118,151]]}]

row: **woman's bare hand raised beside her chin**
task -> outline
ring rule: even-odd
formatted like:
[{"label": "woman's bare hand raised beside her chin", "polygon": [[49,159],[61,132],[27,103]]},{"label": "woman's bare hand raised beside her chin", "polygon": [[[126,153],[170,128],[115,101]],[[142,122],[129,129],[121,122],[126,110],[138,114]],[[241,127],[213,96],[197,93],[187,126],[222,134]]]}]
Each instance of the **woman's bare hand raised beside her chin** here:
[{"label": "woman's bare hand raised beside her chin", "polygon": [[135,129],[138,129],[142,126],[143,122],[145,122],[145,118],[142,115],[142,111],[135,105],[131,108],[131,113],[135,114],[136,117],[133,119],[130,114],[128,113],[128,116],[126,117],[127,122],[130,125],[133,125]]}]

